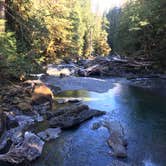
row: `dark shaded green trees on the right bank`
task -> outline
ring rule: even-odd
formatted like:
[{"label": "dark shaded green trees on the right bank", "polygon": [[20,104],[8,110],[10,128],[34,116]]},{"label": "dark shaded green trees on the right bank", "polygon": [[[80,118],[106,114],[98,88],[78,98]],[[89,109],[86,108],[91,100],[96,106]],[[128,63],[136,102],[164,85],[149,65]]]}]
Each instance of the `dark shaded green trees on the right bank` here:
[{"label": "dark shaded green trees on the right bank", "polygon": [[114,51],[124,55],[141,52],[144,56],[157,56],[165,48],[165,1],[133,0],[121,9],[107,14],[110,22],[109,43]]}]

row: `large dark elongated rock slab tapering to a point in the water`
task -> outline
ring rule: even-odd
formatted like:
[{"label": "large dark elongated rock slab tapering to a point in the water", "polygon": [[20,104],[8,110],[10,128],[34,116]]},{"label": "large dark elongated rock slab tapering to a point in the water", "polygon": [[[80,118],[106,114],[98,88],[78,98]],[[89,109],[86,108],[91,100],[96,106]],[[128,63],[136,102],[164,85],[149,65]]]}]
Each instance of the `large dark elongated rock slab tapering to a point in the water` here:
[{"label": "large dark elongated rock slab tapering to a point in the water", "polygon": [[79,125],[94,116],[103,114],[105,114],[105,112],[89,109],[87,105],[75,105],[57,111],[53,114],[54,117],[49,120],[49,124],[51,127],[67,129]]}]

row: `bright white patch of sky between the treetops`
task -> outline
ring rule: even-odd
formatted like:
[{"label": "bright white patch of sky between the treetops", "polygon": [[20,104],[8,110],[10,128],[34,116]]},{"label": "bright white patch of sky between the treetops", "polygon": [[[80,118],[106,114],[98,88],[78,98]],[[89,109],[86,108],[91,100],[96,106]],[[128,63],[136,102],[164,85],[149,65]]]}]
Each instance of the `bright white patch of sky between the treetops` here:
[{"label": "bright white patch of sky between the treetops", "polygon": [[120,7],[124,0],[91,0],[92,11],[103,13],[112,7]]}]

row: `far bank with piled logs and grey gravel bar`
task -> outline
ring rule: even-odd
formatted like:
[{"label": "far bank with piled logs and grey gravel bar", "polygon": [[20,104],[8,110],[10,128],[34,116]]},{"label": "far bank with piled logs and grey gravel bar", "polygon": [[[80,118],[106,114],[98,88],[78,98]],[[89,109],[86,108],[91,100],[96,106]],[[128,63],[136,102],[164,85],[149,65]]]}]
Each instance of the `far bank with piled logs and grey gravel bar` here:
[{"label": "far bank with piled logs and grey gravel bar", "polygon": [[[158,62],[148,59],[99,56],[75,63],[48,65],[48,75],[43,75],[40,78],[48,84],[49,80],[54,80],[63,90],[84,89],[86,87],[87,90],[101,92],[102,89],[103,91],[108,90],[111,83],[108,81],[107,84],[104,84],[105,86],[102,86],[102,79],[116,78],[127,84],[166,95],[165,69],[156,68],[157,65]],[[97,88],[95,89],[95,87]]]}]

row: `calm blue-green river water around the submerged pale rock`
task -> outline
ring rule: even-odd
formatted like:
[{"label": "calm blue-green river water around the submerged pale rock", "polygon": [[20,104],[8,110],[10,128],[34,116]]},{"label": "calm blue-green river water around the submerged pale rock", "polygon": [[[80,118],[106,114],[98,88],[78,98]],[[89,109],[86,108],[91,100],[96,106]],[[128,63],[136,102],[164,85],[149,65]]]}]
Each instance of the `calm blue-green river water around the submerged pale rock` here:
[{"label": "calm blue-green river water around the submerged pale rock", "polygon": [[[56,80],[49,83],[58,84]],[[74,82],[70,84],[75,86]],[[104,86],[104,80],[101,84]],[[69,87],[57,97],[81,97],[90,108],[106,111],[107,114],[65,131],[55,141],[47,143],[42,156],[33,163],[34,166],[166,165],[164,96],[119,80],[109,80],[109,86],[103,92],[88,91],[86,84],[83,87],[78,85],[76,90],[69,90],[72,89]],[[96,84],[91,83],[91,86]],[[94,122],[105,118],[118,120],[123,125],[128,140],[127,159],[119,160],[109,154],[109,134],[105,128],[91,129]]]}]

